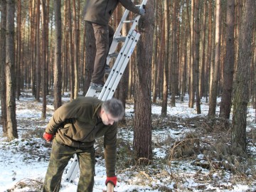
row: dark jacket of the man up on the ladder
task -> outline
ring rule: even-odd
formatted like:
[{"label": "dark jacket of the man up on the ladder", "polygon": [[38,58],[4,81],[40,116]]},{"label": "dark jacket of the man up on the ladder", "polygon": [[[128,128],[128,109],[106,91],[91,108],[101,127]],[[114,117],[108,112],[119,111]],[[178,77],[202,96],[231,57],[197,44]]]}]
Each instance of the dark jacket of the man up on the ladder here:
[{"label": "dark jacket of the man up on the ladder", "polygon": [[84,9],[85,21],[106,26],[118,3],[134,14],[139,14],[139,7],[135,6],[131,0],[87,0]]}]

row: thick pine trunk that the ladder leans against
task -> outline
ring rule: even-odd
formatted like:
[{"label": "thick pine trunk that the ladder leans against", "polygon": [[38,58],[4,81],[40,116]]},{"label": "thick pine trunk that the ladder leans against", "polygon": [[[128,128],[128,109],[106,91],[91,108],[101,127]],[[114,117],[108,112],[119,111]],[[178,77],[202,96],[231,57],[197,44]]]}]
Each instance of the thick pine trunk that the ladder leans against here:
[{"label": "thick pine trunk that the ladder leans against", "polygon": [[[151,55],[153,53],[154,1],[146,4],[146,14],[139,20],[142,34],[137,46],[136,80],[134,82],[134,151],[140,163],[149,163],[151,149]],[[143,160],[143,159],[142,159]]]}]

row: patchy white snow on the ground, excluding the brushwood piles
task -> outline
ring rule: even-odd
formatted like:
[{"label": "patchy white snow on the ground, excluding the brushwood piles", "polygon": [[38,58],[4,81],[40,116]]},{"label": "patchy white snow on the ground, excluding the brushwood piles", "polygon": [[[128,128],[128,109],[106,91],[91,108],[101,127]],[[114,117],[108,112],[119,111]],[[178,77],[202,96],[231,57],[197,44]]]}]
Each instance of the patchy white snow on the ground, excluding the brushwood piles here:
[{"label": "patchy white snow on the ground, excluding the brushwood piles", "polygon": [[[48,97],[48,100],[52,100],[52,98]],[[63,102],[68,102],[68,100],[69,97],[63,97]],[[38,191],[33,186],[43,183],[48,167],[50,144],[41,139],[41,133],[53,114],[53,106],[48,105],[47,119],[42,120],[41,105],[41,102],[34,101],[29,92],[22,93],[20,100],[16,102],[18,139],[6,142],[0,125],[0,191]],[[217,114],[218,110],[219,108],[217,108]],[[208,114],[208,104],[204,101],[201,104],[201,111],[202,114],[198,115],[196,109],[189,108],[187,97],[184,102],[177,100],[176,107],[168,107],[170,116],[181,119],[204,117]],[[132,116],[133,113],[133,105],[127,105],[126,116]],[[152,105],[152,113],[160,114],[161,106]],[[256,129],[255,123],[253,123],[255,122],[255,110],[252,107],[248,109],[247,122],[250,122],[248,129]],[[177,127],[173,129],[166,126],[164,129],[153,129],[152,143],[159,144],[169,137],[171,137],[171,141],[176,141],[183,137],[186,132],[191,132],[191,128],[186,127],[186,124],[181,123]],[[130,142],[132,146],[132,128],[120,127],[119,138]],[[208,139],[210,138],[208,136]],[[203,169],[201,166],[194,166],[192,164],[193,159],[189,158],[172,161],[171,164],[159,164],[161,159],[164,162],[166,155],[168,155],[166,147],[168,147],[166,144],[154,145],[154,158],[147,170],[146,166],[139,167],[132,166],[132,164],[125,169],[125,166],[120,165],[122,162],[117,163],[119,164],[118,183],[114,191],[256,191],[256,181],[251,179],[250,182],[245,182],[245,180],[253,178],[251,174],[245,176],[244,179],[242,177],[234,179],[235,176],[230,171]],[[250,152],[255,156],[255,145],[250,146]],[[205,158],[206,156],[203,154],[197,156],[198,161],[203,161]],[[252,162],[254,162],[252,167],[256,169],[256,159],[252,159]],[[78,178],[75,179],[74,183],[65,182],[65,174],[63,174],[60,191],[76,191]],[[100,156],[97,157],[95,174],[94,192],[106,189],[104,159]],[[237,182],[234,183],[234,181]],[[213,183],[215,183],[214,186]]]}]

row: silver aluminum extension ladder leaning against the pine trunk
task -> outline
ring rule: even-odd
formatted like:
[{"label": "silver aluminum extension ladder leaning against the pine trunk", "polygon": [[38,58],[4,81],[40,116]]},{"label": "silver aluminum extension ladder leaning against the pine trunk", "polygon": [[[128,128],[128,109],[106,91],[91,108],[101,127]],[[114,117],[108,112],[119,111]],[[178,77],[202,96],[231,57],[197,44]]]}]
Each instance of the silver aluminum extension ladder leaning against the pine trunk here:
[{"label": "silver aluminum extension ladder leaning against the pine trunk", "polygon": [[[137,5],[139,7],[143,7],[146,5],[147,0],[143,0],[142,4]],[[112,44],[110,46],[109,54],[107,55],[107,65],[110,64],[111,58],[117,57],[114,62],[114,65],[111,69],[110,75],[108,76],[105,85],[103,86],[102,90],[95,90],[92,87],[89,87],[85,97],[98,97],[100,100],[110,100],[113,95],[114,91],[117,89],[117,85],[122,78],[125,68],[129,62],[129,58],[131,57],[137,42],[139,41],[140,33],[135,30],[140,15],[137,15],[131,21],[127,21],[127,16],[129,14],[129,10],[124,11],[124,15],[121,18],[119,26],[114,33],[114,38]],[[122,26],[124,23],[132,23],[132,26],[127,34],[127,36],[121,35]],[[124,42],[123,46],[119,53],[115,53],[114,51],[117,48],[119,42]],[[100,92],[100,95],[99,95]],[[75,155],[73,162],[68,170],[68,174],[65,177],[65,181],[73,183],[76,176],[78,175],[79,171],[79,164],[78,164],[78,157]]]}]

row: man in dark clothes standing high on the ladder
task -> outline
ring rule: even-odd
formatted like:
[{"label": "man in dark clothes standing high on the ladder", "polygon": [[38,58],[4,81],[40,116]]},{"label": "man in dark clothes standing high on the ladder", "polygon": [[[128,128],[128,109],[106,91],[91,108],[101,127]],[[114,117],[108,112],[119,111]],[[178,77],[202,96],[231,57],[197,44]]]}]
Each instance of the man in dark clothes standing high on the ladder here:
[{"label": "man in dark clothes standing high on the ladder", "polygon": [[107,67],[106,58],[114,36],[114,30],[108,23],[118,3],[122,4],[125,9],[132,11],[134,14],[145,14],[144,8],[138,8],[131,0],[91,0],[87,1],[85,5],[84,19],[88,24],[92,25],[95,33],[96,55],[90,83],[90,86],[95,89],[101,89],[104,84],[103,77],[105,68]]}]

